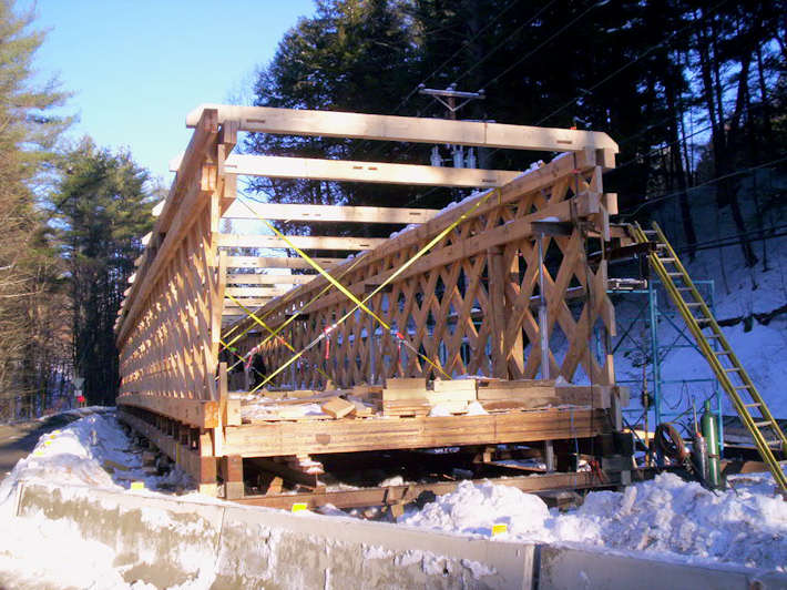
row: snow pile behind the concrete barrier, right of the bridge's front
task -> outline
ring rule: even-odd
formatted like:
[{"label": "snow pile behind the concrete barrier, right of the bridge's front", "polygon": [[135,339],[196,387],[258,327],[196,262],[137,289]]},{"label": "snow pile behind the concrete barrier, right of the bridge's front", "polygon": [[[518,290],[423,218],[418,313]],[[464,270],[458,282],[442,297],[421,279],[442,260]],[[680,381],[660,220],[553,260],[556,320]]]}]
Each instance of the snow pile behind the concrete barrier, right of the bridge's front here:
[{"label": "snow pile behind the concrete barrier, right of the bridge's front", "polygon": [[568,542],[647,551],[687,561],[787,568],[787,502],[765,476],[739,480],[736,491],[713,492],[670,474],[624,492],[596,491],[568,513],[548,510],[538,496],[509,486],[460,484],[400,522],[501,540]]}]

